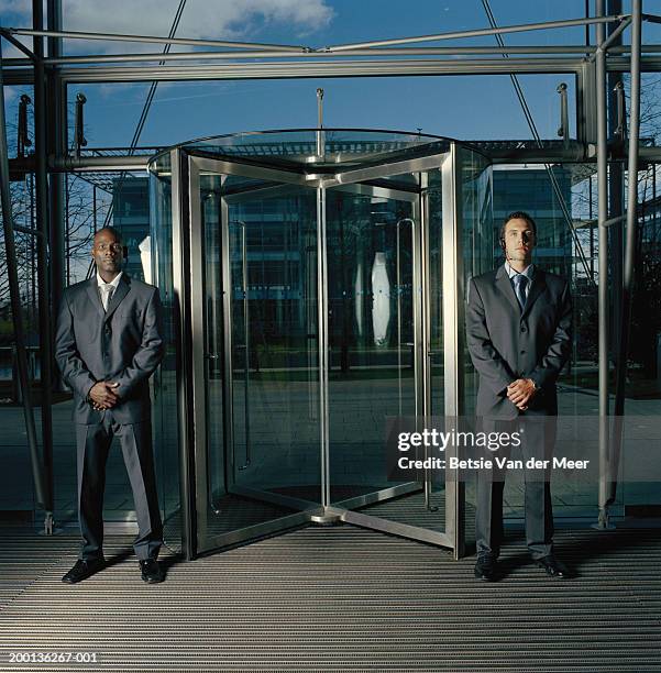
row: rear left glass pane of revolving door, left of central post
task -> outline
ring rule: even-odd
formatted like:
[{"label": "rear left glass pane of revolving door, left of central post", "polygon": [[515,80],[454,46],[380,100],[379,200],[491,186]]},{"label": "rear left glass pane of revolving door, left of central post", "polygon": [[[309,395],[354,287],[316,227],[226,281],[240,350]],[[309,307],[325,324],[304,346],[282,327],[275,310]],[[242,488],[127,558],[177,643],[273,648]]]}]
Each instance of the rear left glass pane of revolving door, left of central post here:
[{"label": "rear left glass pane of revolving door, left of central post", "polygon": [[244,195],[228,199],[224,213],[234,489],[318,506],[315,192]]}]

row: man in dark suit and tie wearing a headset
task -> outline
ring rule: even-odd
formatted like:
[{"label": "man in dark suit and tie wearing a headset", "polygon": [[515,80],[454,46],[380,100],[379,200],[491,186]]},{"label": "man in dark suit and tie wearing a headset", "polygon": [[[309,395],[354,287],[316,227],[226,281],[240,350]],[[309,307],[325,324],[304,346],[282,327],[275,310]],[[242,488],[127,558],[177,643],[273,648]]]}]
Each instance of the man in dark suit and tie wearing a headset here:
[{"label": "man in dark suit and tie wearing a headset", "polygon": [[[513,212],[500,229],[506,262],[471,278],[466,338],[480,375],[475,413],[484,431],[524,428],[524,459],[549,460],[553,450],[555,382],[572,344],[572,302],[566,279],[532,264],[537,227],[526,212]],[[499,446],[496,455],[507,456]],[[495,455],[487,456],[496,465]],[[526,538],[533,561],[549,575],[565,577],[553,555],[550,472],[526,471]],[[477,470],[475,576],[498,577],[503,541],[505,471]]]}]

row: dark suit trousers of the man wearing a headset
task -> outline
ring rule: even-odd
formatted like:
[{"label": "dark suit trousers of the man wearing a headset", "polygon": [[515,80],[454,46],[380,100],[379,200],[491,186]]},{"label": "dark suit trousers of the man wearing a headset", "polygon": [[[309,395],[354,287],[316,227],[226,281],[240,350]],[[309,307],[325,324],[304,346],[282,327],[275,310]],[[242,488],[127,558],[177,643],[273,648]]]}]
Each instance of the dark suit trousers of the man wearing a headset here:
[{"label": "dark suit trousers of the man wearing a headset", "polygon": [[[525,478],[526,542],[530,555],[542,559],[552,553],[553,511],[551,505],[551,470],[526,468],[528,460],[551,461],[555,443],[555,417],[519,417],[515,420],[482,419],[484,432],[522,432],[521,455]],[[497,558],[504,538],[503,490],[507,467],[498,467],[495,457],[510,459],[511,446],[500,445],[497,451],[485,450],[483,457],[491,460],[493,467],[477,470],[477,494],[475,515],[475,541],[478,556]]]}]

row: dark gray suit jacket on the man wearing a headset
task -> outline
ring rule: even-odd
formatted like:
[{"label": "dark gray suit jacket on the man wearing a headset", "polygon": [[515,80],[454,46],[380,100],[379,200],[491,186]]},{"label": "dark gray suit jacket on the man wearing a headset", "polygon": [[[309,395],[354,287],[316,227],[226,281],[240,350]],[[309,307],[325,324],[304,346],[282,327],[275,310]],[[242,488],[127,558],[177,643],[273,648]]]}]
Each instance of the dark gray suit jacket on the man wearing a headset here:
[{"label": "dark gray suit jacket on the man wearing a headset", "polygon": [[572,299],[564,278],[536,265],[522,312],[505,266],[471,278],[466,340],[480,374],[476,416],[516,418],[519,410],[506,388],[517,378],[531,378],[541,388],[526,413],[558,413],[555,382],[572,347]]}]

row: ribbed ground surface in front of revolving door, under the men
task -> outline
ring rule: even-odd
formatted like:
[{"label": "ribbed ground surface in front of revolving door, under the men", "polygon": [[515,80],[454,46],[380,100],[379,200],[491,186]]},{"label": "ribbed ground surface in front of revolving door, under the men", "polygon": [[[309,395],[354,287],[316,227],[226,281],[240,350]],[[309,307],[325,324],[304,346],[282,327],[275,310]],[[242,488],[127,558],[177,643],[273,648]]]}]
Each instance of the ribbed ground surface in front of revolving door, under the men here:
[{"label": "ribbed ground surface in front of revolving door, under the men", "polygon": [[[307,528],[141,582],[130,539],[76,586],[73,536],[0,527],[0,671],[661,671],[661,531],[563,530],[580,576],[552,581],[508,536],[507,576],[472,560],[341,526]],[[10,653],[95,663],[10,663]]]}]

